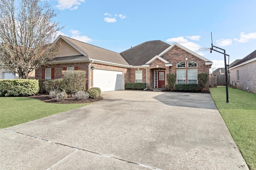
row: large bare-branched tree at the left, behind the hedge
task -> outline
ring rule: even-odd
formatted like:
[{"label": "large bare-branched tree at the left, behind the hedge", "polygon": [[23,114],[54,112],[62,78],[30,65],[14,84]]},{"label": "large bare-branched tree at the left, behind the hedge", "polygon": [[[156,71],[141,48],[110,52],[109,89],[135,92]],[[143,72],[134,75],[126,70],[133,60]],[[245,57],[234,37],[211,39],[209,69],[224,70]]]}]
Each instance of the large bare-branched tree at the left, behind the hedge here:
[{"label": "large bare-branched tree at the left, behind the hedge", "polygon": [[0,0],[0,65],[27,79],[59,51],[61,29],[47,1]]}]

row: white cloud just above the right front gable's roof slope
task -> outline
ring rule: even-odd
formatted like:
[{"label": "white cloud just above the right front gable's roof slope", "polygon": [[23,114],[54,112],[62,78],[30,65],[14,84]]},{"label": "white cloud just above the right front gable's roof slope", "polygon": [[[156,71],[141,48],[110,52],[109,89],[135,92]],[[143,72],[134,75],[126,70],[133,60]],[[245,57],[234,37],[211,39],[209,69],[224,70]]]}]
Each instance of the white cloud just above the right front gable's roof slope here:
[{"label": "white cloud just above the right front gable's roof slope", "polygon": [[201,46],[199,44],[188,41],[184,37],[168,38],[166,41],[167,42],[176,42],[176,43],[186,47],[187,49],[190,49],[191,51],[198,51],[198,49],[201,48]]}]

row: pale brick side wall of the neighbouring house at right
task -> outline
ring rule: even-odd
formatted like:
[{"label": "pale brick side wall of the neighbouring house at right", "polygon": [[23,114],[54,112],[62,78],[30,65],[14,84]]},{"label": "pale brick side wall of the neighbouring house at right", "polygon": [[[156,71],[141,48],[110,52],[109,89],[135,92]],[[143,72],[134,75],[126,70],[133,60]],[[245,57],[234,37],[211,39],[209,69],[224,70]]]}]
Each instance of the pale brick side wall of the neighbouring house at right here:
[{"label": "pale brick side wall of the neighbouring house at right", "polygon": [[[242,66],[230,69],[229,74],[229,84],[230,87],[232,87],[232,81],[233,82],[233,88],[238,88],[240,90],[246,90],[246,88],[249,88],[250,92],[253,92],[256,94],[256,61],[244,64]],[[237,80],[237,70],[239,70],[239,81]]]}]

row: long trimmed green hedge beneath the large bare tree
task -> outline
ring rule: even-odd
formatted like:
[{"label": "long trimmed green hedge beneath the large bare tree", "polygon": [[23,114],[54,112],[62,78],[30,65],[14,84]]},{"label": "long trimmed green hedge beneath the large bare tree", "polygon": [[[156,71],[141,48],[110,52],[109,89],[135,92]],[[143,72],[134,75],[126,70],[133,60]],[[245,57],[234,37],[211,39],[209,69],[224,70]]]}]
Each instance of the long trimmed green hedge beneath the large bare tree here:
[{"label": "long trimmed green hedge beneath the large bare tree", "polygon": [[32,96],[38,91],[38,80],[35,79],[0,80],[1,96]]}]

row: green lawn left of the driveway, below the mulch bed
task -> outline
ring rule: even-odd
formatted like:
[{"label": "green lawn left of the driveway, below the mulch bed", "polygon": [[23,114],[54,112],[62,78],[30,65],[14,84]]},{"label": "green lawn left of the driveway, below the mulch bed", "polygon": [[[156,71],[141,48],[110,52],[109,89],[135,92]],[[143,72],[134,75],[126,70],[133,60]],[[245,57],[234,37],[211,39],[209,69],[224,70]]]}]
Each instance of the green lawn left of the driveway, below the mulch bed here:
[{"label": "green lawn left of the driveway, below the mulch bed", "polygon": [[26,97],[0,97],[0,129],[88,104],[51,104]]}]

